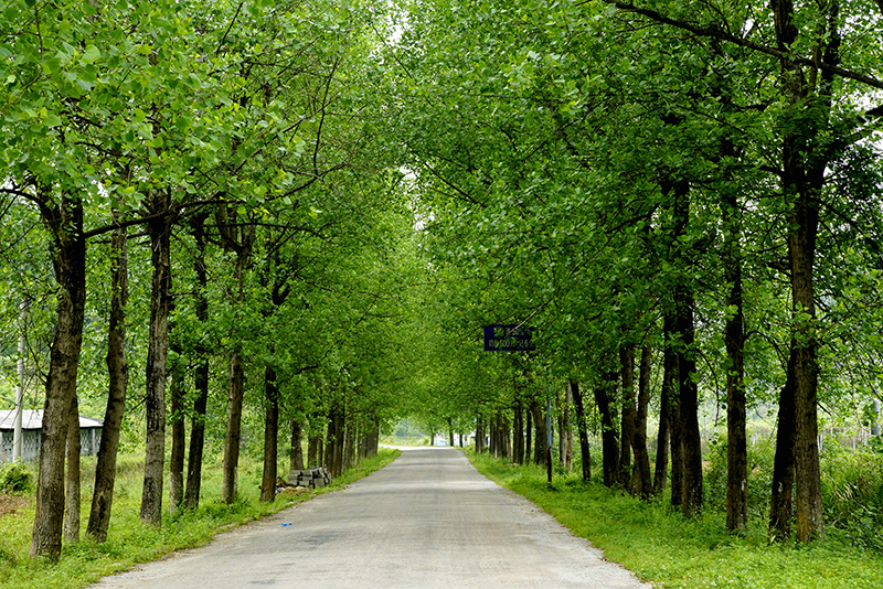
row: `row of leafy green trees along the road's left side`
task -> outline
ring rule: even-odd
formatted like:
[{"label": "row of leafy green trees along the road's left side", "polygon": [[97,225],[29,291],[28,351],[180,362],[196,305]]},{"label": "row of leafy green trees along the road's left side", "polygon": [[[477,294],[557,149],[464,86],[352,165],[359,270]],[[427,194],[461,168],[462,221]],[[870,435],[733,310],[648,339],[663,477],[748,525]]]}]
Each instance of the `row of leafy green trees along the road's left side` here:
[{"label": "row of leafy green trees along the road's left side", "polygon": [[86,528],[98,540],[120,429],[139,418],[141,520],[153,525],[163,490],[172,508],[199,502],[212,414],[226,416],[226,502],[244,407],[265,413],[263,500],[280,421],[292,468],[306,424],[332,475],[376,451],[393,407],[382,362],[397,338],[393,285],[409,271],[394,253],[411,221],[365,116],[372,7],[350,8],[4,4],[3,304],[31,301],[45,384],[32,556],[57,557],[63,529],[79,536],[77,404],[106,398]]}]

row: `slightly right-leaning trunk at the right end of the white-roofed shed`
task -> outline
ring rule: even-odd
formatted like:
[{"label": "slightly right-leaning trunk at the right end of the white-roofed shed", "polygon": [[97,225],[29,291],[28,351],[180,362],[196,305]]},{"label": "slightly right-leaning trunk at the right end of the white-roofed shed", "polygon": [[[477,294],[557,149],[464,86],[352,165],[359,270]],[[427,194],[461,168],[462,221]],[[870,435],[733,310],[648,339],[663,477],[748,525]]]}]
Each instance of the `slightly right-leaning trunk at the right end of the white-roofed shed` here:
[{"label": "slightly right-leaning trunk at the right end of the white-roofed shed", "polygon": [[[114,215],[116,219],[116,215]],[[110,508],[114,504],[114,483],[117,474],[119,429],[126,410],[129,388],[129,363],[126,360],[126,306],[129,298],[128,251],[126,227],[114,232],[110,240],[110,321],[107,332],[107,408],[104,413],[98,461],[95,467],[95,490],[92,494],[86,535],[95,542],[107,540]]]}]

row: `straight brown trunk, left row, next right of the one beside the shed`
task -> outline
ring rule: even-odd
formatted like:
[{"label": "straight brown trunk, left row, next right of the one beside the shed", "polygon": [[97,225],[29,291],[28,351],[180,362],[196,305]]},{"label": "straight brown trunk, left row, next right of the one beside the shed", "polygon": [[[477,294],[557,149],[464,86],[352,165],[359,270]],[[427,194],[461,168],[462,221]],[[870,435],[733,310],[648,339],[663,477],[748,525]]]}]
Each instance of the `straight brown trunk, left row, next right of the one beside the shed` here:
[{"label": "straight brown trunk, left row, next right of the one beside the shed", "polygon": [[[167,191],[151,193],[151,213],[169,211],[171,197]],[[159,526],[162,523],[162,471],[166,462],[166,358],[168,355],[169,312],[171,310],[171,225],[170,214],[163,214],[147,225],[150,235],[150,261],[153,278],[150,294],[150,334],[147,351],[145,410],[147,443],[145,447],[145,480],[141,491],[141,522]]]}]

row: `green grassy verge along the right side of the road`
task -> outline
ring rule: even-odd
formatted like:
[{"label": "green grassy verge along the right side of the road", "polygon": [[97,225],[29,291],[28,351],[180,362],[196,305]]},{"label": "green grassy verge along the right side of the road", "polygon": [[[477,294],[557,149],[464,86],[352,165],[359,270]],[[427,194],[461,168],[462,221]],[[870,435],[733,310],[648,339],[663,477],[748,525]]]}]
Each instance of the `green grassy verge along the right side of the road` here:
[{"label": "green grassy verge along the right side of the road", "polygon": [[469,458],[482,474],[524,495],[655,587],[883,587],[883,557],[849,545],[836,532],[808,546],[770,546],[759,521],[745,537],[735,537],[726,533],[723,514],[685,521],[663,502],[642,503],[597,483],[584,484],[576,475],[557,475],[550,485],[535,467],[474,453]]}]

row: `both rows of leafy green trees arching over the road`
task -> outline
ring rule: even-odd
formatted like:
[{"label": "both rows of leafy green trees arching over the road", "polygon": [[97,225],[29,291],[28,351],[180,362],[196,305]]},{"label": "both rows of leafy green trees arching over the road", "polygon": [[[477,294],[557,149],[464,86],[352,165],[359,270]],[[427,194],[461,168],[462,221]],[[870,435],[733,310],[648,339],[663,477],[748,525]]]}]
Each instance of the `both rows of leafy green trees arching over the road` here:
[{"label": "both rows of leafy green trees arching over the road", "polygon": [[[728,526],[746,411],[777,403],[770,534],[796,513],[821,536],[817,409],[880,376],[881,10],[7,2],[0,300],[4,324],[30,301],[45,385],[32,555],[78,537],[72,417],[105,403],[98,540],[138,427],[159,525],[167,488],[199,502],[206,440],[235,499],[257,413],[266,500],[280,424],[292,468],[307,436],[332,474],[406,414],[542,461],[550,397],[584,478],[597,420],[606,484],[670,480],[694,515],[719,392]],[[536,354],[479,351],[481,325],[522,321]]]}]

